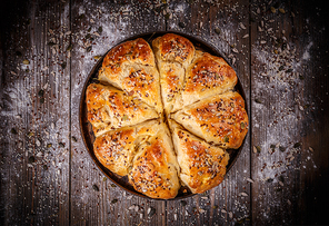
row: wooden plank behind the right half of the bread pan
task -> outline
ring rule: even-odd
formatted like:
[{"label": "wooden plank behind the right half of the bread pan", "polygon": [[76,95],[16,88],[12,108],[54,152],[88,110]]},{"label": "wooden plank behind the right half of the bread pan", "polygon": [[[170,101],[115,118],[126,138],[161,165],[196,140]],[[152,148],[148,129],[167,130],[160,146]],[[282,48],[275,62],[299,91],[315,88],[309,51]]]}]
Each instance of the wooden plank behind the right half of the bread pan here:
[{"label": "wooden plank behind the right half of the bread pan", "polygon": [[[183,31],[218,48],[233,65],[245,87],[249,106],[249,1],[221,3],[170,1],[168,31]],[[241,26],[242,23],[242,26]],[[250,110],[250,109],[249,109]],[[176,225],[233,225],[250,223],[250,143],[249,135],[241,155],[227,174],[225,181],[205,195],[188,198],[187,205],[168,203],[167,223]],[[241,193],[248,194],[247,197]],[[176,214],[177,213],[177,214]],[[176,218],[176,215],[178,216]]]}]

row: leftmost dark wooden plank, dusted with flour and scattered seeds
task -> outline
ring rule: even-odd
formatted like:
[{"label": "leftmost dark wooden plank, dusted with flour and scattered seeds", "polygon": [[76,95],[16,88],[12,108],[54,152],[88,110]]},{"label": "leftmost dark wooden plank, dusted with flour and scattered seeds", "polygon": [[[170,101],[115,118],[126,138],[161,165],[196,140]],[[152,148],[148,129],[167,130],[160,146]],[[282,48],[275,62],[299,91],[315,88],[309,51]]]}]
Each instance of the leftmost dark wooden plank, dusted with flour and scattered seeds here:
[{"label": "leftmost dark wooden plank, dusted with flour and scattered seeds", "polygon": [[66,53],[52,48],[66,41],[59,32],[70,24],[69,4],[14,1],[8,10],[0,104],[4,225],[64,224],[70,77],[60,66]]}]

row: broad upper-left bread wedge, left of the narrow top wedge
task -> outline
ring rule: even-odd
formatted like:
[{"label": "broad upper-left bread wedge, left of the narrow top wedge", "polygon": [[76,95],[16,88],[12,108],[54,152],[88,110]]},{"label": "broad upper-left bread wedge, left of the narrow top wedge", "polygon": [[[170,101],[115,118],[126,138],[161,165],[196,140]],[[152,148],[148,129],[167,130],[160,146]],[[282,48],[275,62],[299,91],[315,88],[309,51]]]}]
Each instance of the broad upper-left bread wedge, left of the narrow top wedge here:
[{"label": "broad upper-left bread wedge, left of the narrow top wedge", "polygon": [[104,57],[98,79],[162,112],[159,72],[153,51],[146,40],[139,38],[111,49]]}]

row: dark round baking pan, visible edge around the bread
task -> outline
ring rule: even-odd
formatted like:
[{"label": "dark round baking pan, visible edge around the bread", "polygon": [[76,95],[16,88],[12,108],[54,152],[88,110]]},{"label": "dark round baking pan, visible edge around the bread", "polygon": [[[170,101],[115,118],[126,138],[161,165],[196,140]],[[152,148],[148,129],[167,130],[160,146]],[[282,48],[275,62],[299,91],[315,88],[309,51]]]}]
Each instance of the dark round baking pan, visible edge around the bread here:
[{"label": "dark round baking pan, visible edge around the bread", "polygon": [[[152,40],[159,36],[163,36],[166,33],[169,33],[168,31],[156,31],[156,32],[148,32],[148,33],[141,33],[141,35],[137,35],[133,37],[130,37],[128,39],[121,40],[120,42],[116,43],[113,47],[116,47],[117,45],[120,45],[124,41],[128,40],[133,40],[137,38],[143,38],[146,41],[148,41],[150,45],[152,42]],[[228,59],[225,57],[225,55],[221,53],[220,50],[218,50],[216,47],[213,47],[210,43],[205,42],[203,40],[191,36],[191,35],[186,35],[182,32],[177,32],[177,31],[170,31],[170,33],[177,33],[179,36],[186,37],[187,39],[189,39],[196,47],[196,49],[200,49],[203,51],[207,51],[213,56],[218,56],[218,57],[222,57],[228,63]],[[113,48],[112,47],[112,48]],[[144,197],[144,198],[150,198],[141,193],[138,193],[137,190],[134,190],[134,188],[128,183],[128,177],[121,177],[114,173],[112,173],[111,170],[109,170],[108,168],[106,168],[103,165],[101,165],[99,163],[99,160],[97,159],[97,157],[94,156],[93,153],[93,141],[94,141],[94,135],[92,131],[92,126],[91,124],[88,121],[88,117],[87,117],[87,105],[86,105],[86,89],[87,87],[92,83],[92,82],[97,82],[97,75],[98,75],[98,70],[101,68],[102,65],[102,60],[104,58],[104,56],[110,51],[111,49],[109,49],[98,61],[97,63],[93,66],[92,70],[90,71],[90,73],[88,75],[84,85],[83,85],[83,89],[80,96],[80,106],[79,106],[79,124],[80,124],[80,131],[81,131],[81,136],[84,143],[84,146],[90,155],[90,157],[92,158],[92,160],[94,161],[94,164],[98,166],[98,168],[112,181],[117,186],[121,187],[122,189],[140,196],[140,197]],[[230,65],[230,63],[229,63]],[[230,65],[231,66],[231,65]],[[231,66],[232,67],[232,66]],[[233,68],[233,67],[232,67]],[[239,79],[239,75],[238,76],[238,83],[236,86],[236,90],[242,96],[242,98],[245,99],[246,102],[246,94],[243,91],[242,85],[240,82]],[[246,102],[246,110],[248,112],[248,102]],[[233,164],[236,163],[239,154],[241,153],[242,147],[245,146],[245,141],[243,140],[241,147],[239,149],[229,149],[228,153],[230,155],[230,160],[229,164],[227,166],[227,173],[232,168]],[[181,199],[181,198],[187,198],[190,196],[193,196],[195,194],[190,193],[189,189],[187,189],[186,187],[181,187],[181,189],[179,190],[179,194],[176,196],[176,198],[171,199],[171,200],[177,200],[177,199]],[[152,199],[152,198],[151,198]]]}]

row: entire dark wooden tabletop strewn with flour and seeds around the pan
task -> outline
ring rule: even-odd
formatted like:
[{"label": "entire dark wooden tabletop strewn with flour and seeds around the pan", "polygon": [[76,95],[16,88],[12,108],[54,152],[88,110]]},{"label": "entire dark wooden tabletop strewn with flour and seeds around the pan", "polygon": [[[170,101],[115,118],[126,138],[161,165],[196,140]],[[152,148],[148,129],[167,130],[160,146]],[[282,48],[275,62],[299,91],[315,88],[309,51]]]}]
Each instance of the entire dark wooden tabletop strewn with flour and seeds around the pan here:
[{"label": "entire dark wooden tabletop strewn with flour and seeds around the pan", "polygon": [[[328,224],[326,1],[11,0],[1,10],[0,225]],[[116,187],[90,158],[78,121],[98,56],[159,30],[220,49],[250,117],[225,181],[176,202]]]}]

